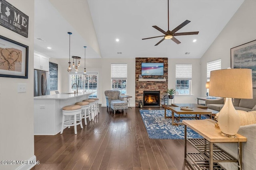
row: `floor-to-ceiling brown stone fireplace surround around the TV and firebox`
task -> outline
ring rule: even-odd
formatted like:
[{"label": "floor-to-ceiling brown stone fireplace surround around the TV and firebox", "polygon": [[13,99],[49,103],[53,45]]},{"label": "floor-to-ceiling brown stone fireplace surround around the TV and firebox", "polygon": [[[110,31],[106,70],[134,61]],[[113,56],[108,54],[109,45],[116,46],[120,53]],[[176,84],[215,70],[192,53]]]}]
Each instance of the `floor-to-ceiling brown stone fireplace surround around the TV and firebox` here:
[{"label": "floor-to-ceiling brown stone fireplace surround around the TV and firebox", "polygon": [[[143,79],[139,79],[141,75],[141,63],[164,63],[164,75],[163,76],[143,76]],[[136,58],[135,66],[135,104],[139,106],[139,102],[144,104],[144,91],[158,91],[159,92],[159,106],[164,104],[163,97],[166,95],[168,89],[168,58]],[[163,81],[164,80],[164,81]]]}]

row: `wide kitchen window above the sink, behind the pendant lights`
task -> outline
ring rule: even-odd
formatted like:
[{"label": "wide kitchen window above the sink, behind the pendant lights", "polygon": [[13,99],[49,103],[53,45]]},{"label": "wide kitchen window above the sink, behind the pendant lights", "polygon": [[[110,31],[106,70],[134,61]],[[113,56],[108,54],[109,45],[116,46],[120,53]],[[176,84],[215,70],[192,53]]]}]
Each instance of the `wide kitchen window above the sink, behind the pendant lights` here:
[{"label": "wide kitchen window above the sink, behind the pendant lights", "polygon": [[90,97],[97,97],[98,73],[87,73],[86,76],[83,74],[70,74],[71,92],[76,90],[75,85],[72,88],[74,83],[78,85],[78,92],[86,90],[86,92],[93,92]]}]

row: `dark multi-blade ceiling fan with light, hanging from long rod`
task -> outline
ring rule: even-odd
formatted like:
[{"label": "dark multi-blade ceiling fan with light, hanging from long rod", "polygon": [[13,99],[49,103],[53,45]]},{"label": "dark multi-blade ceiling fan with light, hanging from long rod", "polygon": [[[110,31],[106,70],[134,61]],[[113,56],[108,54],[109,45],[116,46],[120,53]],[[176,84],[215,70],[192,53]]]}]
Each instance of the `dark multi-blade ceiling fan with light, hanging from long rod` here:
[{"label": "dark multi-blade ceiling fan with light, hanging from long rod", "polygon": [[182,27],[184,27],[188,23],[190,23],[190,21],[186,20],[183,23],[181,23],[178,27],[174,28],[172,31],[169,30],[169,0],[168,0],[168,31],[164,31],[161,28],[159,28],[158,26],[154,25],[152,27],[154,27],[158,31],[164,33],[165,35],[156,36],[156,37],[149,37],[149,38],[143,38],[142,40],[144,40],[144,39],[151,39],[151,38],[157,38],[157,37],[164,37],[158,43],[156,43],[156,45],[160,44],[162,41],[164,41],[164,39],[171,39],[175,43],[180,44],[181,42],[178,39],[176,39],[174,36],[178,36],[178,35],[197,35],[199,33],[199,31],[176,33],[179,29],[181,29]]}]

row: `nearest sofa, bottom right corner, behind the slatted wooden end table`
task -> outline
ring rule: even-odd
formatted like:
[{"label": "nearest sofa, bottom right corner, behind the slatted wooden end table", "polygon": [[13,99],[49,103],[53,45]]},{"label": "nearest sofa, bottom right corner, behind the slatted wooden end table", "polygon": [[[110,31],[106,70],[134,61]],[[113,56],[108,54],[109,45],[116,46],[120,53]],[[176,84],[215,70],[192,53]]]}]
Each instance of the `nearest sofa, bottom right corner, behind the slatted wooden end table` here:
[{"label": "nearest sofa, bottom right corner, behind the slatted wooden end table", "polygon": [[[242,170],[256,170],[256,111],[237,110],[240,117],[240,128],[238,134],[247,138],[247,142],[242,143]],[[218,120],[218,115],[217,120]],[[213,120],[212,120],[213,121]],[[235,158],[238,157],[237,143],[218,143],[222,148]],[[226,170],[236,170],[237,163],[220,163]]]}]

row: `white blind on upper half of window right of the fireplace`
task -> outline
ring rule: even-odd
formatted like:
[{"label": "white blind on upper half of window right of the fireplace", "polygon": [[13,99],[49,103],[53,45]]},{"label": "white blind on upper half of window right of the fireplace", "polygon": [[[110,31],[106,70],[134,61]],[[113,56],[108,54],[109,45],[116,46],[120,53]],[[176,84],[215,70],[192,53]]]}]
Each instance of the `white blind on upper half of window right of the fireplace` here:
[{"label": "white blind on upper half of window right of the fireplace", "polygon": [[192,64],[176,64],[176,79],[191,80]]}]

